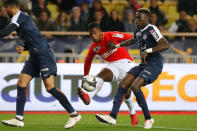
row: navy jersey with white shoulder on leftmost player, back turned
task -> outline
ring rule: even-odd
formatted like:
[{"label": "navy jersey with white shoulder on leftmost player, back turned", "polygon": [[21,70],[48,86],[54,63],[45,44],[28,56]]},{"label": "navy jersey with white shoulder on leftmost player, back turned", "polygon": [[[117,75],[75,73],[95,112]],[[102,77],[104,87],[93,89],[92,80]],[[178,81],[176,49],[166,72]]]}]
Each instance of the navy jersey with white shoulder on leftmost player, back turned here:
[{"label": "navy jersey with white shoulder on leftmost player, back turned", "polygon": [[12,17],[10,24],[17,25],[16,32],[23,40],[24,46],[30,51],[30,54],[34,49],[40,50],[40,52],[49,49],[48,42],[42,37],[39,29],[28,14],[21,11],[17,12]]}]

